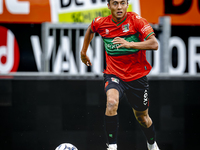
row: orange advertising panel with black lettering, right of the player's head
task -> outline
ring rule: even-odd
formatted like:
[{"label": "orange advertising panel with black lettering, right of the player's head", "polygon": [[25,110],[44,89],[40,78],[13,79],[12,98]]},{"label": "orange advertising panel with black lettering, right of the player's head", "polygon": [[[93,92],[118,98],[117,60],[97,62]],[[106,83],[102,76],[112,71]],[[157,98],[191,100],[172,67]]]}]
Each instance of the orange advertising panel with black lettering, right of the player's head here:
[{"label": "orange advertising panel with black lettering, right of the player's head", "polygon": [[200,25],[200,0],[140,0],[141,15],[151,23],[170,16],[172,25]]}]

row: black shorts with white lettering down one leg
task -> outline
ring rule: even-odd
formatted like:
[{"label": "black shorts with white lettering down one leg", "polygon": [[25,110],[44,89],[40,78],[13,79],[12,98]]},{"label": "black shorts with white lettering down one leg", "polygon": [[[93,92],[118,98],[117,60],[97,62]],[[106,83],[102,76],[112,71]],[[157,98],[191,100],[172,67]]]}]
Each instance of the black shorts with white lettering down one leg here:
[{"label": "black shorts with white lettering down one leg", "polygon": [[109,89],[119,91],[119,99],[124,94],[137,111],[144,111],[149,107],[149,84],[147,77],[144,76],[131,82],[124,82],[120,78],[112,74],[104,74],[105,92]]}]

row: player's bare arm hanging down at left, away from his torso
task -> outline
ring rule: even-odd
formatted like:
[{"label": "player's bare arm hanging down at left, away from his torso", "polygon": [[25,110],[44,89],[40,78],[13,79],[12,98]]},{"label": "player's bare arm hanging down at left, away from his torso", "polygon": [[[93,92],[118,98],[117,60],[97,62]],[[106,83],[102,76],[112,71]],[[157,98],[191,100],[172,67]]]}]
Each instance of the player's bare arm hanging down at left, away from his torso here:
[{"label": "player's bare arm hanging down at left, away from his torso", "polygon": [[93,37],[94,37],[94,32],[92,32],[91,25],[89,25],[89,27],[85,33],[83,47],[81,50],[81,60],[87,66],[92,65],[92,63],[90,62],[90,59],[86,53],[87,53],[88,46],[89,46],[90,42],[92,41]]}]

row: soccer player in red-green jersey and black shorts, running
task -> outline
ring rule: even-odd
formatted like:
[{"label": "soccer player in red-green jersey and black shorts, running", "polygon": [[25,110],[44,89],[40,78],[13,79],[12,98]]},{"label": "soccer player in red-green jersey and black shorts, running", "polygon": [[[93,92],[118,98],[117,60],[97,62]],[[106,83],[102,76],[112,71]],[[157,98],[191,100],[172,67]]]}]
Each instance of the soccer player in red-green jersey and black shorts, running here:
[{"label": "soccer player in red-green jersey and black shorts, running", "polygon": [[149,150],[159,150],[153,122],[148,114],[149,84],[146,75],[151,66],[146,60],[146,50],[157,50],[158,43],[149,23],[134,12],[127,12],[128,0],[107,0],[111,15],[95,18],[88,27],[81,60],[91,66],[87,48],[97,32],[105,44],[106,69],[104,70],[107,96],[105,127],[107,150],[117,150],[118,104],[126,94],[133,113],[147,139]]}]

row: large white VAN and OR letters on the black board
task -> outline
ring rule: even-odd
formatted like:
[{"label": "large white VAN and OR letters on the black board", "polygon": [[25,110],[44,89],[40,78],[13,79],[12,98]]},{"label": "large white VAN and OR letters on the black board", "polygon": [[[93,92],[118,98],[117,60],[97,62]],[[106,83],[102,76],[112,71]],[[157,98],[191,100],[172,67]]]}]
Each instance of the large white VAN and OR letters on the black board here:
[{"label": "large white VAN and OR letters on the black board", "polygon": [[[84,37],[79,38],[79,45],[83,44]],[[70,42],[69,38],[67,36],[64,36],[62,38],[64,45],[58,47],[58,52],[56,55],[56,60],[54,64],[52,65],[53,72],[54,73],[61,73],[63,70],[67,71],[69,73],[78,73],[78,74],[84,74],[87,71],[86,66],[80,61],[80,56],[74,56],[73,50],[69,49]],[[101,63],[102,57],[101,51],[102,51],[102,45],[100,42],[100,37],[96,37],[96,44],[95,48],[92,49],[91,46],[89,46],[88,49],[88,56],[91,59],[91,62],[93,63],[93,69],[91,70],[92,73],[95,74],[101,74],[102,68]],[[159,42],[159,41],[158,41]],[[33,47],[33,52],[37,64],[38,71],[41,71],[41,54],[42,54],[42,48],[39,42],[38,36],[32,36],[31,37],[31,43]],[[48,58],[50,60],[52,55],[52,50],[54,46],[53,37],[49,37],[49,46],[48,46]],[[178,51],[178,64],[176,67],[172,65],[172,59],[169,63],[169,75],[182,75],[185,73],[188,73],[190,75],[195,75],[199,73],[198,67],[200,66],[200,54],[198,53],[198,47],[200,47],[200,37],[189,37],[188,38],[188,55],[186,51],[186,44],[184,41],[177,36],[173,36],[170,38],[169,41],[169,55],[172,54],[173,47],[176,47]],[[80,51],[81,49],[79,49]],[[62,61],[62,55],[63,53],[66,57],[64,61]],[[153,59],[153,68],[150,72],[151,75],[159,75],[160,74],[160,50],[153,51],[154,59]],[[76,58],[77,57],[77,58]],[[188,59],[188,61],[186,61]],[[188,66],[188,71],[187,70]],[[200,69],[200,68],[199,68]]]}]

